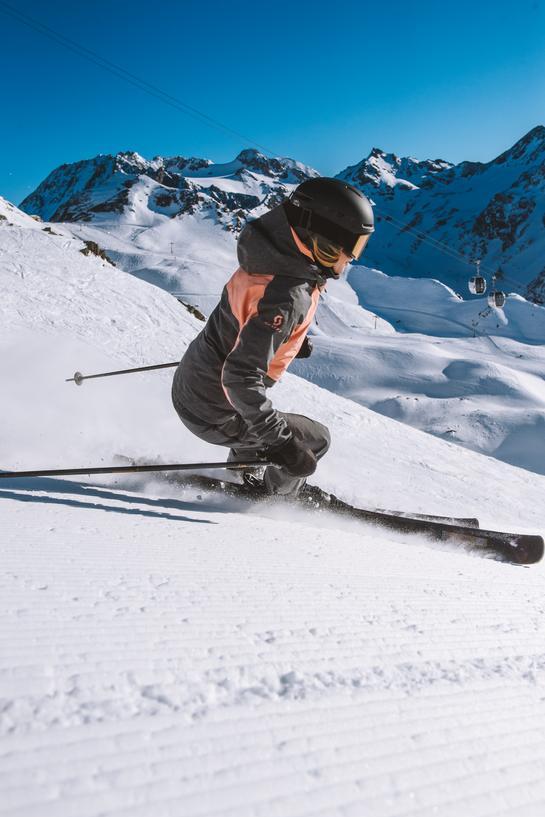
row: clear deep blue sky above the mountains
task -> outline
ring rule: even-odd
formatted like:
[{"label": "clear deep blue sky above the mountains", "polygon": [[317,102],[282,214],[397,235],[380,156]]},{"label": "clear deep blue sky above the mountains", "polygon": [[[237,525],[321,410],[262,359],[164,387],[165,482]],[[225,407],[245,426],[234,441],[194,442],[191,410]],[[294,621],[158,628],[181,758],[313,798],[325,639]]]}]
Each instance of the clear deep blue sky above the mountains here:
[{"label": "clear deep blue sky above the mountains", "polygon": [[[63,162],[251,146],[5,13],[0,195]],[[545,124],[545,0],[9,0],[275,155],[334,175],[373,146],[487,161]]]}]

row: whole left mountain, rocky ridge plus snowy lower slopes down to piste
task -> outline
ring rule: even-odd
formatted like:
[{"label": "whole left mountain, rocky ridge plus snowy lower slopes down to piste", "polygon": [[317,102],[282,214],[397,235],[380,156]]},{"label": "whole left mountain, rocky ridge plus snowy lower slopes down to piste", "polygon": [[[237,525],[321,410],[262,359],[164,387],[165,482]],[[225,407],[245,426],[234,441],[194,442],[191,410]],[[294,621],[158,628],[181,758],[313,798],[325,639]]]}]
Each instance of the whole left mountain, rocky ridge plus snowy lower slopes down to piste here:
[{"label": "whole left mountain, rocky ridge plus snowy lower slopes down to piste", "polygon": [[21,207],[72,224],[126,272],[209,311],[236,259],[246,220],[318,172],[293,159],[243,150],[232,162],[97,156],[62,165]]}]

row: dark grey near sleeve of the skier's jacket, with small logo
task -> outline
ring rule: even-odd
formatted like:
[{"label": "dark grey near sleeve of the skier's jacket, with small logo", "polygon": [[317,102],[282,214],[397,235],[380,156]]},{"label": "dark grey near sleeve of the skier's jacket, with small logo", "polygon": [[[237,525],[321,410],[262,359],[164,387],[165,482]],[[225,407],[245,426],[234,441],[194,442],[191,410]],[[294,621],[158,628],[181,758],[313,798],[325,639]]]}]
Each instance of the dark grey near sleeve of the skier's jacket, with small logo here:
[{"label": "dark grey near sleeve of the skier's jacket, with small logo", "polygon": [[[286,421],[266,395],[269,364],[295,325],[288,293],[267,287],[257,313],[242,327],[222,370],[227,399],[246,422],[248,433],[263,445],[279,445],[291,437]],[[270,291],[269,291],[270,290]]]}]

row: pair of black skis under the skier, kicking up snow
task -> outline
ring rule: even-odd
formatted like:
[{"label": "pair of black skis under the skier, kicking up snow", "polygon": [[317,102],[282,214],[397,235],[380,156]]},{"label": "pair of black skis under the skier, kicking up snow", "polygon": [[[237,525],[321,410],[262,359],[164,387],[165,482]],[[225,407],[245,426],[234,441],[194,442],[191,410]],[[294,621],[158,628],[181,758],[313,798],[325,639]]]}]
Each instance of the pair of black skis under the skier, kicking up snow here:
[{"label": "pair of black skis under the skier, kicking up snow", "polygon": [[[466,551],[481,553],[497,561],[509,562],[510,564],[536,564],[543,557],[544,543],[543,538],[539,535],[483,530],[478,527],[478,522],[474,519],[466,520],[424,514],[408,515],[397,511],[357,508],[315,485],[306,485],[299,496],[291,500],[271,496],[260,490],[255,484],[237,484],[200,474],[169,474],[166,478],[182,487],[221,492],[227,496],[253,502],[270,504],[275,501],[288,501],[316,511],[329,511],[334,514],[360,519],[402,533],[424,534],[438,541],[462,546]],[[477,524],[465,524],[467,522]]]}]

